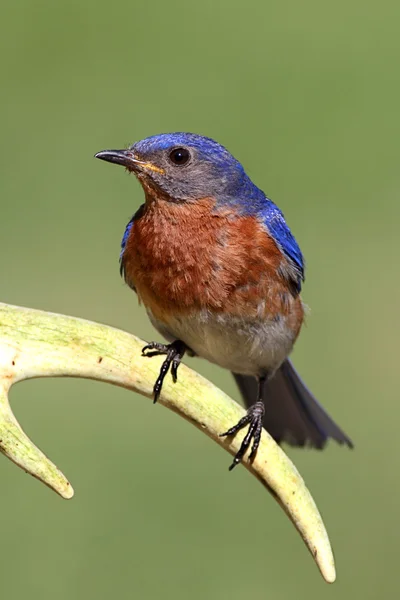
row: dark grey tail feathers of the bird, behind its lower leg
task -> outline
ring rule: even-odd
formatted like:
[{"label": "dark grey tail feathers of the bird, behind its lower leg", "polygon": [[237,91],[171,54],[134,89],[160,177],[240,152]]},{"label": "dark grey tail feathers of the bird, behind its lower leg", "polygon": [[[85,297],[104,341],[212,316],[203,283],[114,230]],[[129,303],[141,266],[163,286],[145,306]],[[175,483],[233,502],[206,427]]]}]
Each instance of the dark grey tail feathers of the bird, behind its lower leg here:
[{"label": "dark grey tail feathers of the bird, behind its lower leg", "polygon": [[[248,375],[233,374],[247,407],[257,400],[257,381]],[[276,442],[322,449],[329,438],[350,448],[350,438],[325,412],[304,385],[292,363],[286,360],[265,383],[264,427]]]}]

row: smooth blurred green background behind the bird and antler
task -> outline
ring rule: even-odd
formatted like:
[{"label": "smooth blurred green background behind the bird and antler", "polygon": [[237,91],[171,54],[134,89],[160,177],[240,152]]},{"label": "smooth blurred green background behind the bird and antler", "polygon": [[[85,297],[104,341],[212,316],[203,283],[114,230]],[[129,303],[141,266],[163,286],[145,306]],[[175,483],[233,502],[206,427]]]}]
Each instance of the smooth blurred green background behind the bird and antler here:
[{"label": "smooth blurred green background behind the bird and antler", "polygon": [[0,300],[157,337],[118,275],[141,190],[93,154],[214,137],[302,246],[294,361],[356,444],[288,449],[334,547],[328,586],[266,491],[182,419],[104,384],[19,385],[18,418],[76,495],[0,460],[4,597],[396,596],[399,18],[394,0],[2,4]]}]

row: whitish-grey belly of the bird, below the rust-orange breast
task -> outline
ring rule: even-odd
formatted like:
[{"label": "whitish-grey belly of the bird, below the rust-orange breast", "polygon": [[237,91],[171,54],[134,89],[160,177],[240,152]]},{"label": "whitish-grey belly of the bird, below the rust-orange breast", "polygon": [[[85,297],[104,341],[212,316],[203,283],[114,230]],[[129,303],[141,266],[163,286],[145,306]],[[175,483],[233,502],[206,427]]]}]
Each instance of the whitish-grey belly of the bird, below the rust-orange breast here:
[{"label": "whitish-grey belly of the bird, below the rust-orange breast", "polygon": [[168,326],[150,312],[149,317],[167,340],[179,339],[198,356],[244,375],[273,373],[291,352],[295,341],[284,316],[247,321],[204,310],[175,318]]}]

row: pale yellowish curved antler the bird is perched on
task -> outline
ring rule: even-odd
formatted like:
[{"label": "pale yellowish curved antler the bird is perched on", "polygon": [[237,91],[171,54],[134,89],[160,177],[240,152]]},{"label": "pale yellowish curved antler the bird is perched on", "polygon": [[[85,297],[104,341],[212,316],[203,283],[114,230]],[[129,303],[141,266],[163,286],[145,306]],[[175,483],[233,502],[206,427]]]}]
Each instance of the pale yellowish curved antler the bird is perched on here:
[{"label": "pale yellowish curved antler the bird is perched on", "polygon": [[[12,384],[34,377],[86,377],[151,397],[162,358],[141,355],[144,342],[124,331],[52,313],[0,303],[0,451],[63,498],[73,489],[57,467],[21,429],[8,402]],[[241,406],[191,371],[179,370],[176,384],[164,382],[160,403],[235,454],[243,439],[219,437],[243,416]],[[329,538],[304,481],[286,454],[263,430],[252,463],[244,466],[268,489],[290,517],[324,579],[335,580]]]}]

